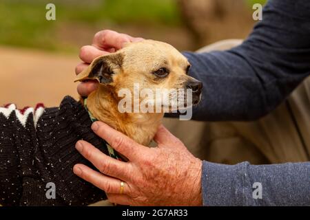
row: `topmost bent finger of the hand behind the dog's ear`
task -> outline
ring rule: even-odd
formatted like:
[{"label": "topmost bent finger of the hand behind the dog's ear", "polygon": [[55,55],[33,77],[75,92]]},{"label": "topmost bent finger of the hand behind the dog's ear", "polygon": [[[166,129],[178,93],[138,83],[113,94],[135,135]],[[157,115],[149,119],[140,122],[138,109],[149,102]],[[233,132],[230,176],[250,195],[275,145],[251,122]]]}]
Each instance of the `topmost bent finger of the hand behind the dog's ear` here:
[{"label": "topmost bent finger of the hand behind the dog's ear", "polygon": [[130,42],[132,42],[132,36],[120,34],[112,30],[102,30],[94,35],[92,45],[101,50],[110,47],[120,50],[125,43]]}]

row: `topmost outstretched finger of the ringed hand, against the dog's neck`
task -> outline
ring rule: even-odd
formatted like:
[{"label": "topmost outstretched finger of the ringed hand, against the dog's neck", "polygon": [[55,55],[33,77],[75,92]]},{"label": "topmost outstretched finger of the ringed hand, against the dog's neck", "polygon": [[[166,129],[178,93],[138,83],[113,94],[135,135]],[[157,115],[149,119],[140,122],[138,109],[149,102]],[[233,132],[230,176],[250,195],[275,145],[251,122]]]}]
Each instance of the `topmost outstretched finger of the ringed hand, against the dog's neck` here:
[{"label": "topmost outstretched finger of the ringed hand, against the dog's neck", "polygon": [[134,142],[130,137],[112,129],[103,122],[92,123],[92,130],[106,140],[112,148],[130,160],[139,159],[138,155],[147,155],[148,148]]}]

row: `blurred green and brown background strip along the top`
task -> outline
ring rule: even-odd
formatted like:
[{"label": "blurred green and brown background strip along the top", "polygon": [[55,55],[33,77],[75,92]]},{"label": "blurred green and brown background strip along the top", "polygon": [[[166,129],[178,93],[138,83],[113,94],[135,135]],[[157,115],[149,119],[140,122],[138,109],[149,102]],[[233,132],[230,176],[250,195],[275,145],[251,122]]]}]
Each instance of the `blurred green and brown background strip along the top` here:
[{"label": "blurred green and brown background strip along the top", "polygon": [[[197,35],[201,35],[200,32],[203,34],[207,32],[208,27],[203,31],[193,30],[195,28],[189,27],[191,21],[188,21],[189,19],[196,19],[195,15],[191,15],[191,13],[196,13],[191,4],[195,2],[197,4],[199,1],[211,2],[212,0],[54,0],[52,2],[45,0],[1,0],[0,44],[73,53],[77,52],[81,45],[90,43],[95,32],[110,28],[136,36],[168,41],[180,50],[193,50],[203,43],[211,43],[229,37],[245,37],[249,32],[249,27],[254,23],[251,19],[251,5],[265,3],[265,0],[213,0],[217,1],[216,4],[218,5],[209,4],[211,6],[205,10],[206,14],[208,12],[210,14],[212,7],[217,10],[216,7],[225,8],[220,4],[226,4],[228,8],[231,8],[231,12],[225,13],[234,14],[235,12],[236,17],[244,16],[241,20],[245,26],[238,28],[237,34],[232,32],[229,36],[229,34],[223,33],[225,31],[219,31],[217,25],[214,31],[223,33],[222,36],[217,34],[210,37],[207,36],[207,33],[205,38],[209,39],[201,42],[199,39],[202,39],[203,36]],[[242,8],[240,14],[240,2],[245,5],[249,13],[244,12]],[[56,21],[45,19],[47,12],[45,5],[47,3],[56,5]],[[237,5],[238,8],[234,5]],[[187,12],[184,12],[184,8]],[[197,14],[199,13],[203,14],[203,12]],[[218,20],[223,25],[221,29],[225,29],[225,26],[231,25],[231,23],[225,24],[223,12],[221,13]],[[216,19],[216,14],[214,17],[209,20]],[[247,19],[245,19],[246,17]],[[208,18],[202,16],[200,21],[195,22],[209,22],[203,19],[207,20]],[[218,21],[214,23],[218,23]],[[203,25],[199,26],[203,27]],[[234,26],[237,27],[238,24],[235,23]]]}]

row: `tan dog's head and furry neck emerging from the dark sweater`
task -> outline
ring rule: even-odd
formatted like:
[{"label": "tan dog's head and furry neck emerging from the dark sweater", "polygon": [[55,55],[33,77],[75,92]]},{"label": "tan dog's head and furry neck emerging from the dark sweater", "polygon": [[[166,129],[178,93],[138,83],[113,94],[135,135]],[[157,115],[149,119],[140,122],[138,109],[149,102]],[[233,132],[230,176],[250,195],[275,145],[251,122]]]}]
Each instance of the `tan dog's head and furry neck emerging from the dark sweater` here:
[{"label": "tan dog's head and furry neck emerging from the dark sweater", "polygon": [[[171,45],[145,40],[128,43],[116,53],[96,58],[75,81],[98,80],[99,88],[87,98],[89,111],[96,119],[147,146],[164,113],[121,113],[118,103],[122,97],[118,97],[118,92],[127,88],[134,94],[134,83],[138,83],[140,89],[152,89],[154,93],[156,89],[189,88],[193,91],[191,104],[197,104],[202,83],[187,76],[189,67],[187,58]],[[173,98],[176,97],[169,96],[169,99]],[[152,101],[156,102],[155,99]]]}]

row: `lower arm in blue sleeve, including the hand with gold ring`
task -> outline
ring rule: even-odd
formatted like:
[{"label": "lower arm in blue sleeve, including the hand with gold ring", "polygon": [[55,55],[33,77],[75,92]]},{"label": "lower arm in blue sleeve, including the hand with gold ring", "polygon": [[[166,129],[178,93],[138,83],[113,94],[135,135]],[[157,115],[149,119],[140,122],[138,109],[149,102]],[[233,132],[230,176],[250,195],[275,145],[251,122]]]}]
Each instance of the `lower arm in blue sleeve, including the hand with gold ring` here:
[{"label": "lower arm in blue sleeve, including the hand with gold ring", "polygon": [[[103,122],[92,124],[129,162],[120,162],[79,142],[78,151],[98,171],[82,164],[74,173],[105,190],[110,201],[132,206],[309,206],[310,163],[234,166],[202,162],[165,127],[158,146],[137,144]],[[120,193],[121,181],[125,183]],[[260,187],[261,186],[261,187]],[[253,188],[254,187],[254,188]]]}]

